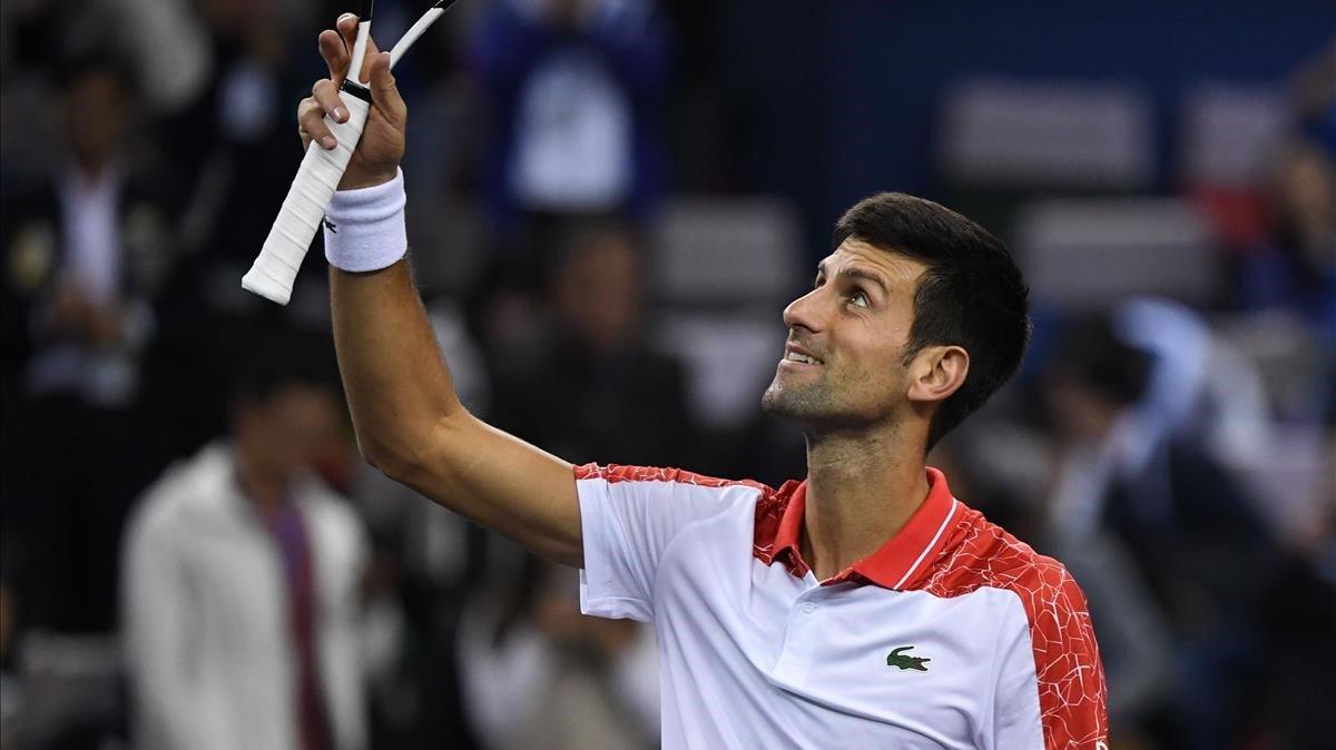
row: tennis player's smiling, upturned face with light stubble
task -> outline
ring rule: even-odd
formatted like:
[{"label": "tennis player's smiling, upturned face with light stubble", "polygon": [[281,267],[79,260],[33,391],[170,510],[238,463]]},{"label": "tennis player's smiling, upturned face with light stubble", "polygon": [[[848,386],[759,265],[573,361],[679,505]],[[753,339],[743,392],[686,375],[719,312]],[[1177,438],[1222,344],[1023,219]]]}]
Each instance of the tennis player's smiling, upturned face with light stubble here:
[{"label": "tennis player's smiling, upturned face with light stubble", "polygon": [[926,270],[862,240],[844,240],[818,266],[812,291],[784,308],[788,343],[762,407],[814,428],[890,418],[906,402],[902,355]]}]

